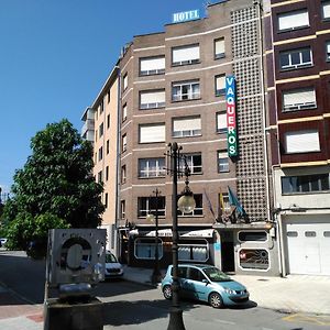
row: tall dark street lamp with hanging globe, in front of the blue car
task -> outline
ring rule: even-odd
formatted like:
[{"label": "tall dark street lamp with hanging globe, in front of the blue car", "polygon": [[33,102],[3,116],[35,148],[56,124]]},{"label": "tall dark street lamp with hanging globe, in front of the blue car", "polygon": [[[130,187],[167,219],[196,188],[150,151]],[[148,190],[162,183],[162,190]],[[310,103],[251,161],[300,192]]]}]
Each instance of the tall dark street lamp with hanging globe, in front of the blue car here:
[{"label": "tall dark street lamp with hanging globe, in front of the blue car", "polygon": [[173,241],[172,241],[172,263],[173,263],[173,274],[172,274],[172,307],[169,309],[169,322],[167,330],[185,330],[183,310],[179,304],[179,282],[178,282],[178,231],[177,231],[177,207],[184,213],[190,213],[195,206],[195,199],[193,193],[188,186],[189,180],[188,176],[190,175],[189,167],[185,162],[185,189],[183,196],[177,201],[177,176],[178,173],[178,161],[180,160],[179,151],[182,147],[178,147],[177,143],[169,143],[169,153],[170,157],[170,174],[173,177],[173,191],[172,191],[172,218],[173,218]]}]

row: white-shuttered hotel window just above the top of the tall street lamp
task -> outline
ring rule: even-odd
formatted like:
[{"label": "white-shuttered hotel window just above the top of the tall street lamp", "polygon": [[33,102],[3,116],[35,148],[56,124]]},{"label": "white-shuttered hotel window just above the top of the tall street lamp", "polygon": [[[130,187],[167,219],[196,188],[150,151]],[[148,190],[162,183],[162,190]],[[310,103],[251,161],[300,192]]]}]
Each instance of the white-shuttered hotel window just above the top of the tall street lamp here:
[{"label": "white-shuttered hotel window just above the top of the tall street lamp", "polygon": [[175,118],[173,119],[174,138],[187,138],[201,135],[200,117]]}]

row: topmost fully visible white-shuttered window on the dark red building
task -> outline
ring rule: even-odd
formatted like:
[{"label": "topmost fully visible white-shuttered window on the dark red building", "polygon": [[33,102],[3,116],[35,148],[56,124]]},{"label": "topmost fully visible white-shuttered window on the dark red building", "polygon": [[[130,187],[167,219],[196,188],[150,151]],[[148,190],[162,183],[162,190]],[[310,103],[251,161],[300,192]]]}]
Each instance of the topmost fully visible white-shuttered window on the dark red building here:
[{"label": "topmost fully visible white-shuttered window on the dark red building", "polygon": [[289,31],[309,26],[307,9],[279,13],[277,18],[279,31]]}]

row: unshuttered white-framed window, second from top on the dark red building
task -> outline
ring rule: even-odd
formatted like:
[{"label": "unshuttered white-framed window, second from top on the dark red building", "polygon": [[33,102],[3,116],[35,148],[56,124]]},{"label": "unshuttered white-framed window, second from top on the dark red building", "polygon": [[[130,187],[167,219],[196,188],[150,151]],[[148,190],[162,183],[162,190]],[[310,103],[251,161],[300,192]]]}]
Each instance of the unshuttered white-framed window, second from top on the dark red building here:
[{"label": "unshuttered white-framed window, second from top on the dark red building", "polygon": [[280,69],[296,69],[312,65],[311,50],[300,48],[279,53]]}]

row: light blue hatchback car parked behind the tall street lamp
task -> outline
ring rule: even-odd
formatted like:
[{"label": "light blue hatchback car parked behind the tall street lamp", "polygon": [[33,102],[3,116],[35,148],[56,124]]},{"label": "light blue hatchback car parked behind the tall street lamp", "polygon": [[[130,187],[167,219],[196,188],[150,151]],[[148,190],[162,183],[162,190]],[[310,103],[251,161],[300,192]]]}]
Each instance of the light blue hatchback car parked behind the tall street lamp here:
[{"label": "light blue hatchback car parked behind the tall street lamp", "polygon": [[[162,290],[166,299],[172,299],[173,265],[169,265]],[[183,298],[209,302],[213,308],[235,306],[249,301],[245,286],[231,279],[211,265],[178,265],[179,295]]]}]

